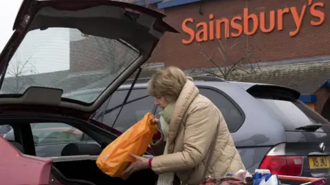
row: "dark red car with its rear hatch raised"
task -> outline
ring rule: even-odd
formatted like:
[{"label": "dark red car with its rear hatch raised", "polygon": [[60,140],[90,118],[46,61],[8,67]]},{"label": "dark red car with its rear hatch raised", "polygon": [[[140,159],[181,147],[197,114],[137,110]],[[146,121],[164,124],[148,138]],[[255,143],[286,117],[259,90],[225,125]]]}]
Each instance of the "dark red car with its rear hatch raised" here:
[{"label": "dark red car with its rear hatch raised", "polygon": [[[0,55],[0,125],[13,132],[10,140],[0,138],[1,184],[124,183],[96,167],[100,151],[117,136],[89,116],[126,79],[140,73],[165,32],[177,33],[164,17],[118,1],[23,1],[14,34]],[[104,89],[93,99],[63,97],[91,84]],[[34,136],[35,125],[50,123],[82,134]],[[60,151],[47,150],[50,156],[41,158],[49,145]],[[125,183],[136,184],[150,173]]]}]

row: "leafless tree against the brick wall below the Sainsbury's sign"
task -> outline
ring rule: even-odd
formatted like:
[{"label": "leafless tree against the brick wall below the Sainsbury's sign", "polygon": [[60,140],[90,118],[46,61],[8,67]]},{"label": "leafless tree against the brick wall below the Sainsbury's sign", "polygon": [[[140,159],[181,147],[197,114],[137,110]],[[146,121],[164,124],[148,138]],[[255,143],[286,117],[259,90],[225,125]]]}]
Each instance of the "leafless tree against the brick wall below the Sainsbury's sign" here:
[{"label": "leafless tree against the brick wall below the Sainsbury's sign", "polygon": [[[201,55],[203,55],[208,62],[211,62],[213,68],[202,68],[202,69],[192,69],[190,73],[194,75],[210,75],[214,77],[221,77],[223,79],[235,79],[237,75],[252,75],[256,73],[256,69],[259,69],[259,58],[254,56],[255,49],[252,45],[248,45],[242,48],[243,53],[239,58],[237,56],[231,57],[230,51],[238,47],[239,38],[236,38],[233,42],[228,45],[228,40],[225,40],[225,44],[218,39],[219,46],[216,48],[217,52],[220,53],[221,59],[214,59],[217,52],[209,51],[213,53],[212,56],[208,54],[206,49],[203,48],[201,44]],[[261,49],[259,49],[261,50]]]}]

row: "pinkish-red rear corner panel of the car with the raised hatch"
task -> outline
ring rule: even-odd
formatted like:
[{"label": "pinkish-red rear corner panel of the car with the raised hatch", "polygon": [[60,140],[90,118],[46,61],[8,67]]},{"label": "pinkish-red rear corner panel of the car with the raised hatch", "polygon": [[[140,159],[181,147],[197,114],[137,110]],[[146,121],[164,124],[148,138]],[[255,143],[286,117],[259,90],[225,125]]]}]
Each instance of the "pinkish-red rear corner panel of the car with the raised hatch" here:
[{"label": "pinkish-red rear corner panel of the car with the raised hatch", "polygon": [[0,180],[5,185],[45,185],[50,180],[52,160],[24,155],[0,138]]}]

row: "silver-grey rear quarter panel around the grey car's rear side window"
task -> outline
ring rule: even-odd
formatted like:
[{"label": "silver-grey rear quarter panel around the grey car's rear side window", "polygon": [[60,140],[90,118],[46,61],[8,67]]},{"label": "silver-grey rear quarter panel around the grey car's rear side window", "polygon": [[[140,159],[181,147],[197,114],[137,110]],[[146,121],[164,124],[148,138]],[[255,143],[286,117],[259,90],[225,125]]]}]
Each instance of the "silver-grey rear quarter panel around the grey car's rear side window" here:
[{"label": "silver-grey rear quarter panel around the grey car's rear side window", "polygon": [[[197,82],[196,85],[198,86],[199,83]],[[270,120],[268,112],[262,107],[253,106],[253,108],[251,108],[251,105],[257,105],[259,102],[246,93],[243,88],[227,82],[203,82],[201,84],[203,84],[203,86],[218,88],[223,91],[223,93],[230,95],[241,109],[244,110],[244,124],[237,132],[232,133],[232,136],[235,138],[234,142],[236,146],[270,146],[285,142],[283,127],[278,125],[276,121]],[[258,119],[255,119],[256,117],[258,117]],[[256,127],[256,129],[251,130],[251,127]],[[274,132],[265,132],[267,130],[272,130]]]}]

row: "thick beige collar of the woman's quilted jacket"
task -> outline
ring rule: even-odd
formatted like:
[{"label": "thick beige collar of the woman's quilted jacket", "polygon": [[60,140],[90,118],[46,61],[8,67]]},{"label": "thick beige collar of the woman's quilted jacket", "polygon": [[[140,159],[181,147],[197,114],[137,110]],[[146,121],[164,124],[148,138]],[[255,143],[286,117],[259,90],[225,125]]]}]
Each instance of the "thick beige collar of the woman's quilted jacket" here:
[{"label": "thick beige collar of the woman's quilted jacket", "polygon": [[[182,88],[179,98],[175,103],[174,112],[170,119],[170,125],[168,128],[168,144],[171,145],[177,134],[179,132],[179,126],[182,122],[184,114],[188,110],[192,101],[199,94],[198,88],[195,86],[193,82],[187,80],[186,84],[184,84],[184,88]],[[172,152],[172,151],[169,151]]]}]

